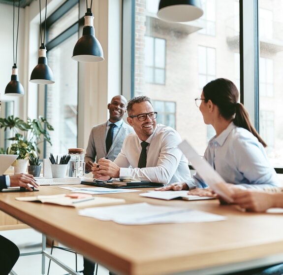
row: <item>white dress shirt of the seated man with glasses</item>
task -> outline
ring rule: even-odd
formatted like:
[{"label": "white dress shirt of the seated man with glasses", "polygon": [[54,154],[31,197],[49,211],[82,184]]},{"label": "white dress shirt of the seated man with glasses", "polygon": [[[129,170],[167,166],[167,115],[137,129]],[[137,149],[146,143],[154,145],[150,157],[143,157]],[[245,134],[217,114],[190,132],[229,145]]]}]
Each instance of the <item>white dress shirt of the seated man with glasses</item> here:
[{"label": "white dress shirt of the seated man with glasses", "polygon": [[145,141],[150,143],[147,146],[147,164],[145,168],[137,168],[142,140],[134,132],[126,137],[121,153],[114,161],[121,168],[121,179],[148,180],[163,184],[188,181],[189,166],[177,147],[181,137],[174,129],[157,124],[154,133]]}]

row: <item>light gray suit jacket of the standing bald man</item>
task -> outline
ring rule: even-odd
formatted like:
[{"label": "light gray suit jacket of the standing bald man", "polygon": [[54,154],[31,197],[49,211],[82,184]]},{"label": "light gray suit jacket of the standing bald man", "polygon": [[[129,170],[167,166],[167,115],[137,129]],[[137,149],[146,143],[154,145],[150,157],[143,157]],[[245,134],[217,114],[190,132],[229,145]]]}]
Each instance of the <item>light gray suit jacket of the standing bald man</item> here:
[{"label": "light gray suit jacket of the standing bald man", "polygon": [[132,127],[126,124],[125,121],[123,121],[123,124],[120,127],[119,132],[117,133],[115,139],[113,140],[113,143],[109,149],[108,154],[106,154],[106,144],[105,144],[106,126],[107,126],[107,122],[104,122],[102,124],[95,125],[92,128],[88,147],[86,150],[86,155],[85,155],[86,163],[88,161],[94,162],[95,157],[97,161],[101,158],[107,158],[111,161],[114,161],[122,149],[124,139],[129,133],[133,132]]}]

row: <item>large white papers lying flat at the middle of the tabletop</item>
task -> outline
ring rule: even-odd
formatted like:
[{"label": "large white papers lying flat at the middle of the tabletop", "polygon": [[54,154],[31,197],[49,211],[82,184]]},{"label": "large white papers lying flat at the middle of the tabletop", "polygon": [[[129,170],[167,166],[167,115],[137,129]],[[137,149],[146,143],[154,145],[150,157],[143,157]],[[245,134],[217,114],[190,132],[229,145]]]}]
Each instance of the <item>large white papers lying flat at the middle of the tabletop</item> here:
[{"label": "large white papers lying flat at the middle of the tabletop", "polygon": [[79,210],[82,216],[125,225],[155,223],[213,222],[223,221],[224,216],[174,206],[155,206],[147,203],[124,206],[92,207]]}]

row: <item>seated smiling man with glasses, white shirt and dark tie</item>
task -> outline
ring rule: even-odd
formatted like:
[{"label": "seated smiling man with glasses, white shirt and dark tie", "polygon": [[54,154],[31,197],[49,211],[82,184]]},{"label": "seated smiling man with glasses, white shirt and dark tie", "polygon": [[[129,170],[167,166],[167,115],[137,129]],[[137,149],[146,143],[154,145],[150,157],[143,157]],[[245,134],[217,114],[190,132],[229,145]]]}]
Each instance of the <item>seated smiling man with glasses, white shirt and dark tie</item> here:
[{"label": "seated smiling man with glasses, white shirt and dark tie", "polygon": [[180,135],[171,127],[156,123],[150,98],[135,97],[127,104],[127,122],[134,129],[129,134],[114,162],[99,159],[93,165],[97,179],[138,179],[168,184],[186,182],[190,178],[189,166],[178,149]]}]

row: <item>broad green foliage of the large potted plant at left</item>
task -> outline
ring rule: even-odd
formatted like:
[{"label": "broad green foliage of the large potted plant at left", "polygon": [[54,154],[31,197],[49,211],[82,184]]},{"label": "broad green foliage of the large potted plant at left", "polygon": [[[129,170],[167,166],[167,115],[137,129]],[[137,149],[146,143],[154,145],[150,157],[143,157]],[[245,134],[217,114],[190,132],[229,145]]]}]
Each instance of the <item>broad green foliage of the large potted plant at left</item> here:
[{"label": "broad green foliage of the large potted plant at left", "polygon": [[18,159],[27,159],[30,155],[37,156],[37,153],[40,153],[38,145],[44,140],[52,145],[49,131],[53,131],[54,128],[42,116],[38,119],[28,118],[27,122],[13,115],[0,118],[0,128],[4,128],[4,131],[13,131],[14,137],[8,138],[13,143],[7,148],[6,153],[19,155]]}]

